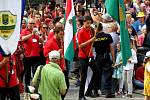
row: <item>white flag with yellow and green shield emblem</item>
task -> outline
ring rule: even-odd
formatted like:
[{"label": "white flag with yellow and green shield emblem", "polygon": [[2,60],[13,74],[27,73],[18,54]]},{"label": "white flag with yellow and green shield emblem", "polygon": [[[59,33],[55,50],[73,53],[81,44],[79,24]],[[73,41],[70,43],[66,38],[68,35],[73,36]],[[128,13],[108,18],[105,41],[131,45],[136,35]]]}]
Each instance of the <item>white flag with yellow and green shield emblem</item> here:
[{"label": "white flag with yellow and green shield emblem", "polygon": [[24,0],[0,0],[0,47],[6,55],[17,49],[23,3]]}]

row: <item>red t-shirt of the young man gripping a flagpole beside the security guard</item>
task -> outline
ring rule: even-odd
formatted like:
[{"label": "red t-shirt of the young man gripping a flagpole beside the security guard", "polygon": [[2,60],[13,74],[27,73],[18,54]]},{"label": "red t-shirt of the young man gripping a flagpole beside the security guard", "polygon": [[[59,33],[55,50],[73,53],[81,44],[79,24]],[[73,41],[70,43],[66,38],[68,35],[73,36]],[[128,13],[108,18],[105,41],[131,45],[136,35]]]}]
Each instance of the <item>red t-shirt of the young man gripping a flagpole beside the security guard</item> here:
[{"label": "red t-shirt of the young man gripping a flagpole beside the security guard", "polygon": [[[78,35],[77,35],[77,38],[78,38],[78,44],[82,44],[86,41],[88,41],[89,39],[91,39],[93,37],[92,35],[92,30],[90,28],[84,28],[82,27],[79,32],[78,32]],[[93,57],[93,52],[90,51],[91,49],[91,45],[92,43],[89,43],[87,44],[84,48],[79,48],[79,53],[78,53],[78,57],[79,58],[87,58],[88,56],[89,57]],[[89,55],[89,52],[90,52],[90,55]]]}]

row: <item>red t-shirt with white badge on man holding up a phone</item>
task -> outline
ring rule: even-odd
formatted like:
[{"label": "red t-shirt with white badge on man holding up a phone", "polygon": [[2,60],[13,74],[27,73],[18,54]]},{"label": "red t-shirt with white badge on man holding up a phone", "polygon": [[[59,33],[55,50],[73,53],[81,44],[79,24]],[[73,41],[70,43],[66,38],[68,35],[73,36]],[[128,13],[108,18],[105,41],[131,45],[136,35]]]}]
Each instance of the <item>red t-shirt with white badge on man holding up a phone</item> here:
[{"label": "red t-shirt with white badge on man holding up a phone", "polygon": [[[28,34],[31,34],[31,31],[29,31],[28,29],[22,30],[21,38],[22,36],[26,36]],[[32,37],[28,40],[23,41],[23,47],[26,57],[40,56],[39,36],[35,34],[32,35]]]}]

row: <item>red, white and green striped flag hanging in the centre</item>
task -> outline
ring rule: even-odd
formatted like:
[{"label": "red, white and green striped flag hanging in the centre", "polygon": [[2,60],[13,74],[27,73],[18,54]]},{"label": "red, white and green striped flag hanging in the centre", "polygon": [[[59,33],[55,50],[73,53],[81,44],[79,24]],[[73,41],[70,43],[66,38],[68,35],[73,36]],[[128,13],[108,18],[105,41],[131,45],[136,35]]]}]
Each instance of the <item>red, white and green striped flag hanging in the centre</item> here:
[{"label": "red, white and green striped flag hanging in the centre", "polygon": [[75,34],[77,32],[73,0],[66,0],[65,19],[64,57],[72,62],[74,58]]}]

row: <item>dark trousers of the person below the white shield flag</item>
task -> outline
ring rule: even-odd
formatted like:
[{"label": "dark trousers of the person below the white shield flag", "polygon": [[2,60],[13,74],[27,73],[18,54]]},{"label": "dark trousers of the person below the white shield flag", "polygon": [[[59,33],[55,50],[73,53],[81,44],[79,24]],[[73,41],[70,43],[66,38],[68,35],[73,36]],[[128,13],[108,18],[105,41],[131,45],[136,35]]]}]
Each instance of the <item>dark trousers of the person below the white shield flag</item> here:
[{"label": "dark trousers of the person below the white shield flag", "polygon": [[5,100],[8,96],[10,100],[20,100],[18,85],[11,88],[0,88],[0,100]]}]

